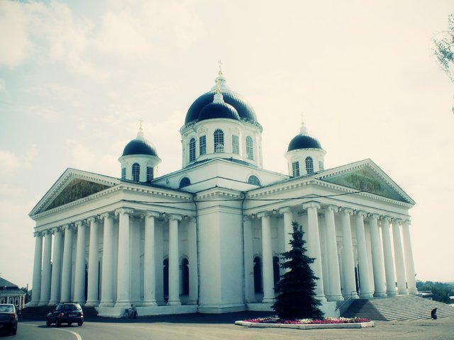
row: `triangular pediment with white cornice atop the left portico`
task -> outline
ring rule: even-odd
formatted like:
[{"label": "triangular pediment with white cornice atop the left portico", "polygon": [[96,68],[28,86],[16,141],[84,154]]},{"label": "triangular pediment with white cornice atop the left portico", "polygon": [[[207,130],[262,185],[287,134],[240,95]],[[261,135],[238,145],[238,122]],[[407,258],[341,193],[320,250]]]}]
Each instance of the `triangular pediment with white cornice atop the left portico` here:
[{"label": "triangular pediment with white cornice atop the left portico", "polygon": [[33,208],[30,215],[45,212],[81,200],[120,183],[118,179],[92,174],[76,169],[67,169],[48,193]]}]

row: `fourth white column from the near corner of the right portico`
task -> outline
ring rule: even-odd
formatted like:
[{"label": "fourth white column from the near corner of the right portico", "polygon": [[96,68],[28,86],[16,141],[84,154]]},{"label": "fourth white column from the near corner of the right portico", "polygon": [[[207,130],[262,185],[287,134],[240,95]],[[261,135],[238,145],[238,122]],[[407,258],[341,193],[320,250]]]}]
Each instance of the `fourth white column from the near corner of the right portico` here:
[{"label": "fourth white column from the near corner of the right portico", "polygon": [[355,215],[356,243],[358,247],[358,264],[360,267],[360,297],[372,298],[369,280],[369,261],[367,260],[366,235],[364,232],[364,217],[367,212],[358,211]]}]

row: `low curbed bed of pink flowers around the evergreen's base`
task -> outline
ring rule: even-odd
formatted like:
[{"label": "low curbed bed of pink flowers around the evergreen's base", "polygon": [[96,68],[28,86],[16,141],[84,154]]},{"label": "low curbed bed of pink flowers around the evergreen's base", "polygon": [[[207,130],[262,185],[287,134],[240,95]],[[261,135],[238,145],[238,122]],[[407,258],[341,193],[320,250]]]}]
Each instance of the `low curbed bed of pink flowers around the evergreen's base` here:
[{"label": "low curbed bed of pink flowers around the evergreen's base", "polygon": [[321,328],[364,328],[375,327],[375,322],[360,317],[327,317],[326,319],[296,319],[285,320],[278,317],[261,317],[237,321],[235,324],[246,327],[279,327],[297,329],[321,329]]}]

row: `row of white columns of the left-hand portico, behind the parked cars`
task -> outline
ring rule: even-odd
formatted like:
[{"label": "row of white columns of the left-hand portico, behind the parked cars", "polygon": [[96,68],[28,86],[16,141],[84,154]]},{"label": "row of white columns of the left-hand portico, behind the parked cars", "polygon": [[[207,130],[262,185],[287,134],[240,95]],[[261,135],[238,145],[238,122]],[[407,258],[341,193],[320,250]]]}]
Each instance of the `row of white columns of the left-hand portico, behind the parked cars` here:
[{"label": "row of white columns of the left-hand portico, behind the parked cars", "polygon": [[[155,222],[159,216],[158,212],[134,212],[132,209],[121,208],[35,232],[31,305],[55,305],[57,302],[74,301],[85,306],[99,307],[130,307],[131,303],[157,306],[157,279],[162,279],[157,273],[157,270],[162,273],[161,266],[157,266],[159,263],[162,265],[162,259],[156,258],[155,251]],[[169,214],[161,216],[165,218],[169,228],[167,305],[178,306],[181,305],[179,222],[183,217]],[[131,219],[137,218],[145,219],[141,300],[137,292],[132,293],[140,285],[137,285],[136,277],[131,279],[133,273],[137,273],[134,272],[132,263],[135,261],[135,266],[138,267],[138,258],[142,256],[137,244],[140,236],[135,236],[137,240],[131,239]],[[194,219],[189,218],[188,228],[195,235]],[[138,230],[134,232],[138,233]],[[161,230],[160,235],[163,234]],[[192,268],[195,270],[195,236],[190,236],[189,239],[193,246],[189,247],[188,257],[194,263]],[[99,263],[102,265],[99,266]],[[194,278],[196,274],[191,273],[190,280],[194,281]],[[132,284],[135,285],[134,289],[131,289]],[[162,289],[161,287],[160,290]],[[196,301],[196,289],[192,288],[189,295],[190,301]],[[164,299],[160,297],[158,300]]]}]

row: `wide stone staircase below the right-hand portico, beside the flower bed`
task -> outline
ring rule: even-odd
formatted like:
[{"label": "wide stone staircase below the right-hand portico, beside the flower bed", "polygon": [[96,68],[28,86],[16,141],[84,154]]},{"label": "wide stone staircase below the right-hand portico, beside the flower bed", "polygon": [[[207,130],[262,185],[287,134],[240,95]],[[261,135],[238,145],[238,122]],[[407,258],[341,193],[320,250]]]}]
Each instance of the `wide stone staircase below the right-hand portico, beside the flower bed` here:
[{"label": "wide stone staircase below the right-hand portico, beside the flower bed", "polygon": [[454,317],[454,305],[427,300],[415,295],[375,297],[355,300],[343,317],[365,317],[377,321],[431,319],[431,310],[437,308],[437,316]]}]

